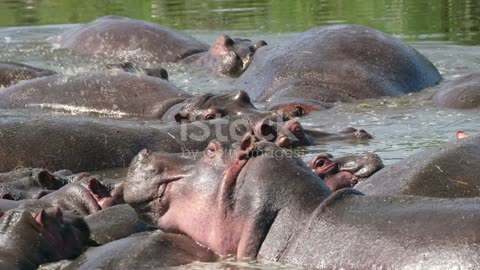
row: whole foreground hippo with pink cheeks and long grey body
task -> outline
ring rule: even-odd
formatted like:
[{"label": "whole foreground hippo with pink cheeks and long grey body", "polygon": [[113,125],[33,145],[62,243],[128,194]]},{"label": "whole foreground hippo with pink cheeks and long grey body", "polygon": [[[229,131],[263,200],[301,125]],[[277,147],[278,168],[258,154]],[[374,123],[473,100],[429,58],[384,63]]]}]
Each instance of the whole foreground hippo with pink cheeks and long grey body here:
[{"label": "whole foreground hippo with pink cheeks and long grey body", "polygon": [[332,192],[300,159],[246,135],[197,158],[142,150],[125,201],[164,232],[219,255],[310,268],[470,267],[480,259],[480,198]]}]

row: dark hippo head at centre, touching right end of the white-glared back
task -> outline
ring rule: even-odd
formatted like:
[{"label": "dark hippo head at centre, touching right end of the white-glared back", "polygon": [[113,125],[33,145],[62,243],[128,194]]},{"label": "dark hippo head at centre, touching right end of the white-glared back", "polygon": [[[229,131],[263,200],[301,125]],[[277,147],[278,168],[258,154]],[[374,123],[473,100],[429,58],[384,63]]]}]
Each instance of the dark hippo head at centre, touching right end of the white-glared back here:
[{"label": "dark hippo head at centre, touching right end of the white-glared back", "polygon": [[172,106],[162,119],[177,123],[191,123],[243,114],[265,117],[273,113],[255,108],[245,91],[235,91],[226,94],[205,94],[187,99]]}]

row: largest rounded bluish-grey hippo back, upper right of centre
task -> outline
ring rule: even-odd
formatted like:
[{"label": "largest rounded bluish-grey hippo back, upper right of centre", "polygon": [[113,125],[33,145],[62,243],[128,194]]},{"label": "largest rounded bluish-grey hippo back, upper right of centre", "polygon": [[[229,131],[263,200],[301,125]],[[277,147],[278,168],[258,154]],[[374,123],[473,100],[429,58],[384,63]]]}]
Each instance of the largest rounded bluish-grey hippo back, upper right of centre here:
[{"label": "largest rounded bluish-grey hippo back, upper right of centre", "polygon": [[334,25],[261,47],[234,87],[254,101],[305,113],[334,102],[400,96],[441,79],[428,59],[399,39],[364,26]]}]

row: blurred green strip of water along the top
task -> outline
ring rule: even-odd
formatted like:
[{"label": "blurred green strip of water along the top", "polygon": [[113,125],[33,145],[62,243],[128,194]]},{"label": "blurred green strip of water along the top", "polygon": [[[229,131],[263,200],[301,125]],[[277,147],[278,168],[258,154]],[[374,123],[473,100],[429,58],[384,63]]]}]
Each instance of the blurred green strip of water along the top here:
[{"label": "blurred green strip of water along the top", "polygon": [[0,26],[84,23],[123,15],[181,30],[300,32],[340,23],[408,41],[480,44],[479,0],[0,0]]}]

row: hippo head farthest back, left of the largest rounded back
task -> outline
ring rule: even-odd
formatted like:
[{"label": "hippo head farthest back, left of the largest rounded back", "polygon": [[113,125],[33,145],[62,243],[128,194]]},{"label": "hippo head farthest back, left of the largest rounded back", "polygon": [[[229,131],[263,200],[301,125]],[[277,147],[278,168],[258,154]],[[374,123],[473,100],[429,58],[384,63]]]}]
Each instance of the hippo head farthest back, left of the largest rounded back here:
[{"label": "hippo head farthest back, left of the largest rounded back", "polygon": [[222,35],[208,51],[205,62],[219,74],[238,77],[250,65],[255,51],[265,45],[263,40],[252,42]]}]

